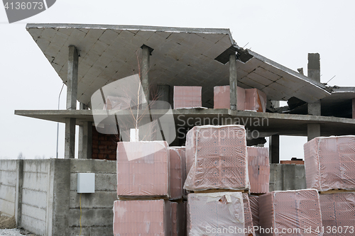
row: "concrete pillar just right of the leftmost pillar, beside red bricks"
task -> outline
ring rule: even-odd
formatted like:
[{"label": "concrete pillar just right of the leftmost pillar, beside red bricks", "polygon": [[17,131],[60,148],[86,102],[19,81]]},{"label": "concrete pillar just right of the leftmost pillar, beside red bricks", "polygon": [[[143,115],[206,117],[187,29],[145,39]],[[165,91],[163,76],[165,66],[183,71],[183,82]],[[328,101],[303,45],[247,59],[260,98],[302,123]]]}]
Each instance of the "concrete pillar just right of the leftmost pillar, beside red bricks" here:
[{"label": "concrete pillar just right of the leftmost pillar, beside red bricks", "polygon": [[[87,110],[84,103],[80,103],[80,110]],[[79,126],[79,159],[92,159],[92,122],[84,121]]]}]

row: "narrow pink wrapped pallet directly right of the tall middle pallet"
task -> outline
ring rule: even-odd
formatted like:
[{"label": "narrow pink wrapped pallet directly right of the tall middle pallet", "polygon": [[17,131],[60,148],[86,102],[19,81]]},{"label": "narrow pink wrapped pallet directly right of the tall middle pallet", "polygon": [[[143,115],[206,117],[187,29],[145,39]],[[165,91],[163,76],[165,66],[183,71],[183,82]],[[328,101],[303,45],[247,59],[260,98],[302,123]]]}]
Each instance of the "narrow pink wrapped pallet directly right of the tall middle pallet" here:
[{"label": "narrow pink wrapped pallet directly right of the tall middle pallet", "polygon": [[268,193],[270,164],[268,147],[248,147],[249,193]]}]

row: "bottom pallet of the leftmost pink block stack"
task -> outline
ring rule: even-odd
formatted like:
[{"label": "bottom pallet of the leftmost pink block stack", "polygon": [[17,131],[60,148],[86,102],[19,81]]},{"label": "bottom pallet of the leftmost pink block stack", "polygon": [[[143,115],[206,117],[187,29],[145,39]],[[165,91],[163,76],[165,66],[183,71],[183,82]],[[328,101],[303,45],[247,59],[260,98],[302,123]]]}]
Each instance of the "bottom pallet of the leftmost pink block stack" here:
[{"label": "bottom pallet of the leftmost pink block stack", "polygon": [[170,202],[114,201],[114,236],[170,236]]}]

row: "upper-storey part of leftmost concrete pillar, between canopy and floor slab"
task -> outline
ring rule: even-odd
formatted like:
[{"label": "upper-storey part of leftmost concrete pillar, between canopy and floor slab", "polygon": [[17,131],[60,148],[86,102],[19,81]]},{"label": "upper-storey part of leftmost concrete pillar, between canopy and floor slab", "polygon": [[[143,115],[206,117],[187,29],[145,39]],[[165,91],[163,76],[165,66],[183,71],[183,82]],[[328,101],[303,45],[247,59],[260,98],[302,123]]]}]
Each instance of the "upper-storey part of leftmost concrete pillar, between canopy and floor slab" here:
[{"label": "upper-storey part of leftmost concrete pillar, between canopy and floor slab", "polygon": [[77,48],[69,46],[69,57],[67,61],[67,110],[77,109]]}]

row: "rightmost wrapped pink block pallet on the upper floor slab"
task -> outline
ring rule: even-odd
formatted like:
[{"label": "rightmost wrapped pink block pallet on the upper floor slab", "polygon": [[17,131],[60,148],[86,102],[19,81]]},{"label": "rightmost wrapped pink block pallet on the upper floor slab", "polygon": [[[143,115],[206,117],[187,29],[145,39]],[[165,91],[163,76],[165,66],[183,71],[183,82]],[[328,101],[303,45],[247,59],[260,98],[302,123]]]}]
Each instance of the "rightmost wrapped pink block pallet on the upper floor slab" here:
[{"label": "rightmost wrapped pink block pallet on the upper floor slab", "polygon": [[258,89],[245,89],[245,109],[266,112],[266,94]]}]

